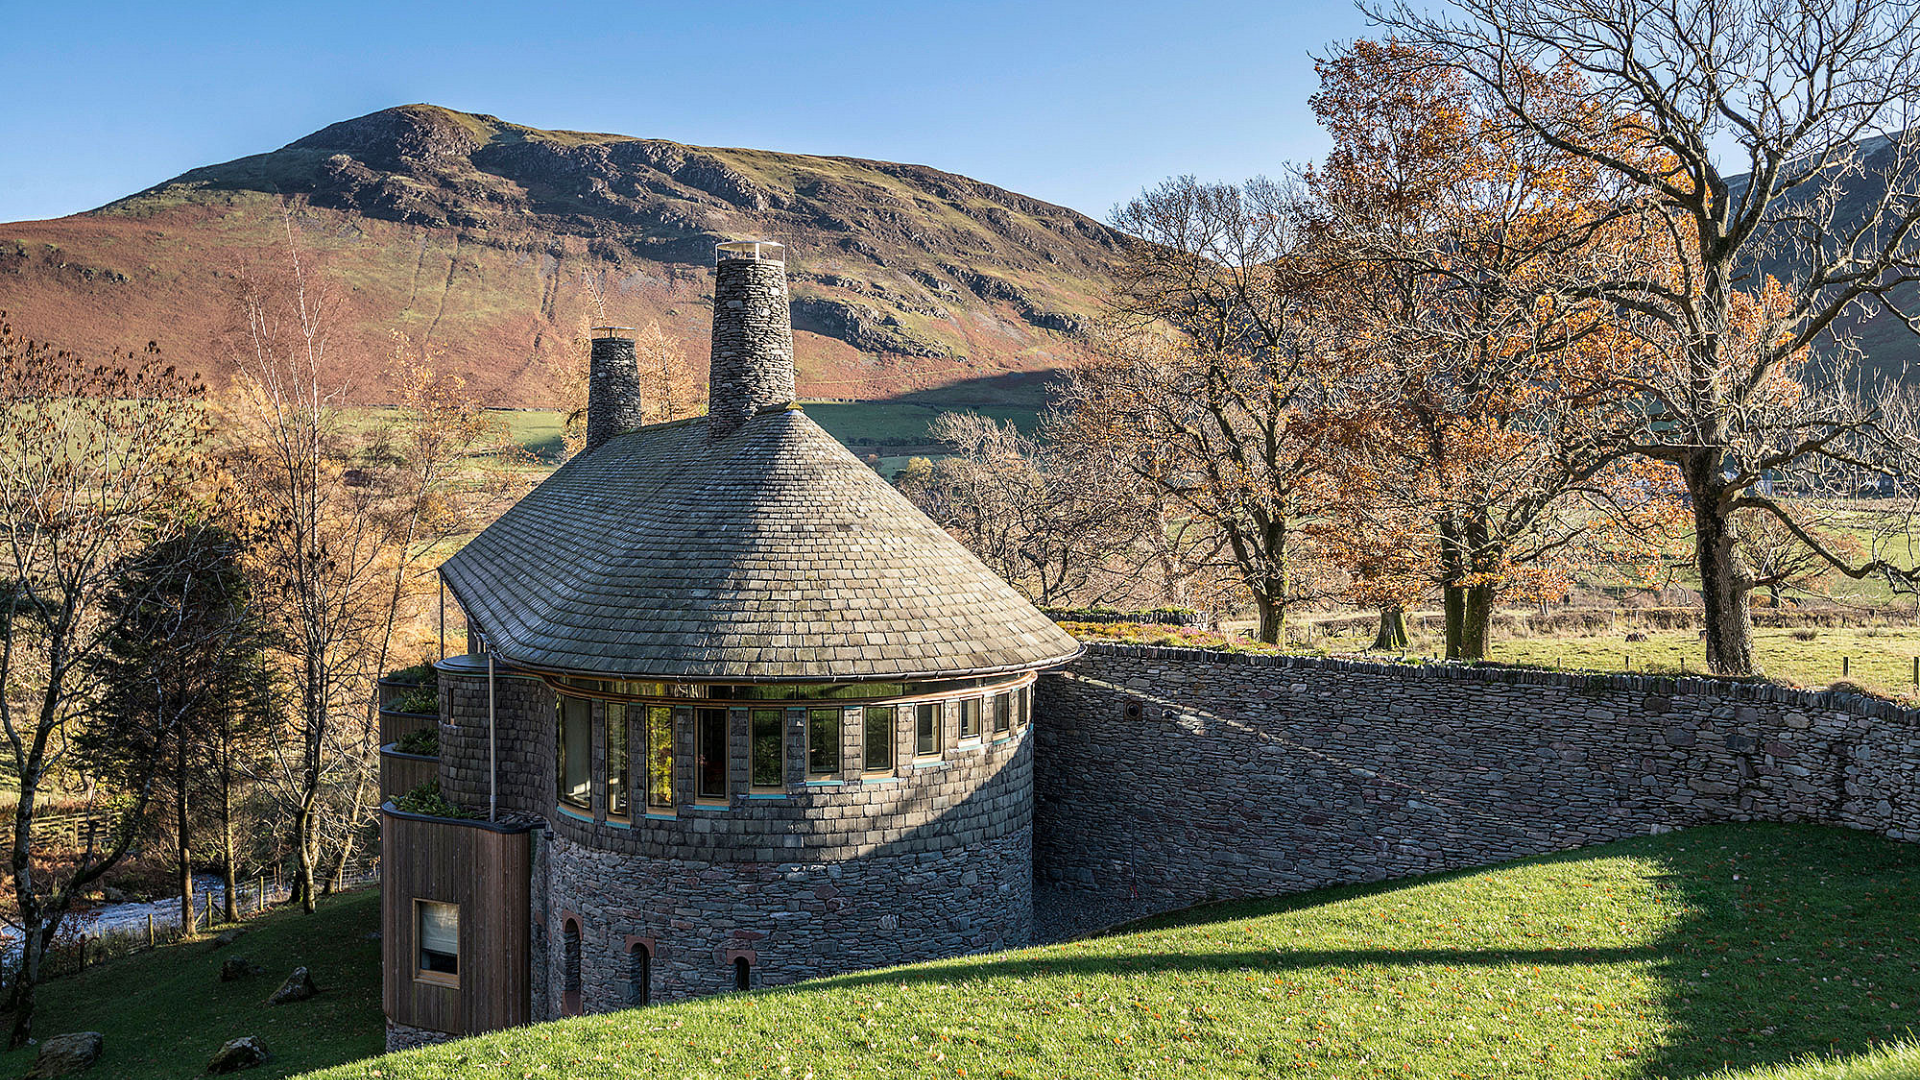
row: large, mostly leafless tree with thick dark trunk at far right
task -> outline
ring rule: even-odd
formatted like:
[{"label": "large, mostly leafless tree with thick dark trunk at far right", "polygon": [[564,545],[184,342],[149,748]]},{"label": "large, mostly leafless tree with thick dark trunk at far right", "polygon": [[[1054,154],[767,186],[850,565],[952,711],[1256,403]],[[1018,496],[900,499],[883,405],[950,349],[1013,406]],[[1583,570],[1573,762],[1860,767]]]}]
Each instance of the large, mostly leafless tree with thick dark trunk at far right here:
[{"label": "large, mostly leafless tree with thick dark trunk at far right", "polygon": [[[1678,469],[1713,671],[1755,669],[1741,511],[1780,521],[1839,573],[1908,580],[1803,528],[1764,479],[1864,459],[1878,417],[1845,394],[1851,317],[1903,309],[1920,277],[1920,10],[1880,0],[1452,0],[1365,6],[1588,161],[1644,211],[1657,271],[1601,267],[1586,294],[1651,357],[1626,388],[1638,452]],[[1542,92],[1540,71],[1578,75]],[[1632,152],[1622,152],[1622,144]],[[1820,346],[1820,363],[1809,357]]]}]

